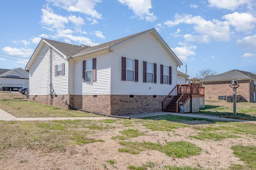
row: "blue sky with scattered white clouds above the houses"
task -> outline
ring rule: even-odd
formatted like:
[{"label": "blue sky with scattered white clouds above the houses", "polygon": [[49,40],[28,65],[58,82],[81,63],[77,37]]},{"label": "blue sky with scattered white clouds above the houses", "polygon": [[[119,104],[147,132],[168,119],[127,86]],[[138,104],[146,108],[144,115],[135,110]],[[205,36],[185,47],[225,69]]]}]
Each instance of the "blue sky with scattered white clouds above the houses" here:
[{"label": "blue sky with scattered white clouds above the houses", "polygon": [[93,46],[154,28],[190,78],[256,74],[256,0],[9,0],[0,16],[0,68],[25,68],[41,38]]}]

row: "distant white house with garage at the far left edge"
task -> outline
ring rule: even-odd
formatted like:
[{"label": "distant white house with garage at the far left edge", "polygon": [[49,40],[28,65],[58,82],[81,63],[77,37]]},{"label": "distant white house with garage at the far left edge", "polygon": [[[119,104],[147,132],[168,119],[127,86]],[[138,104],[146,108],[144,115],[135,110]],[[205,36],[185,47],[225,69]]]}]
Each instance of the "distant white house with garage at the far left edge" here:
[{"label": "distant white house with garage at the far left edge", "polygon": [[0,69],[0,91],[28,87],[28,72],[22,68]]}]

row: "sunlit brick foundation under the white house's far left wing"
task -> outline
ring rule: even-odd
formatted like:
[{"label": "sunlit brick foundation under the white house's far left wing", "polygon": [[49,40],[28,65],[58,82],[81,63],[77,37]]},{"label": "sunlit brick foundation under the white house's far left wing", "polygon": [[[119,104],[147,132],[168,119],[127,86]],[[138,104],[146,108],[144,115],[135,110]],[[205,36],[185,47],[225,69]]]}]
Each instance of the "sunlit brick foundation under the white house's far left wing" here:
[{"label": "sunlit brick foundation under the white house's far left wing", "polygon": [[[60,107],[62,109],[68,109],[68,106],[64,100],[68,102],[68,95],[52,95],[52,106]],[[30,95],[29,101],[38,102],[41,104],[50,105],[50,95]]]}]

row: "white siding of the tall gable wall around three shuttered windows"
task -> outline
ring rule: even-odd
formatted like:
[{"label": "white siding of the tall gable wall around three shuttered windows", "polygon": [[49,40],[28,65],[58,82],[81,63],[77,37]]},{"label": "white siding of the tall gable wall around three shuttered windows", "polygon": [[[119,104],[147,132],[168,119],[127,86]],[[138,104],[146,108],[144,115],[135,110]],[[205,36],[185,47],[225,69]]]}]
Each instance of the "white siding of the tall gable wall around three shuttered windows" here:
[{"label": "white siding of the tall gable wall around three shuttered windows", "polygon": [[[176,86],[177,64],[152,34],[142,35],[112,49],[110,90],[112,95],[167,95]],[[121,80],[122,57],[138,59],[138,82]],[[143,61],[156,63],[157,83],[142,82]],[[171,85],[160,84],[160,64],[172,67]]]}]

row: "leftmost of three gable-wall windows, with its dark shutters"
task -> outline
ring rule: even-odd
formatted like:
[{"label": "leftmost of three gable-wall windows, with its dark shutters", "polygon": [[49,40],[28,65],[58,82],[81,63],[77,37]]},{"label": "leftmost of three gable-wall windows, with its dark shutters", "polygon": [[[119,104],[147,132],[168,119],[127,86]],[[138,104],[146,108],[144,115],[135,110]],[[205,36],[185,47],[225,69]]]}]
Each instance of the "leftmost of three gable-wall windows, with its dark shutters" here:
[{"label": "leftmost of three gable-wall windows, with its dark shutters", "polygon": [[138,60],[122,57],[122,81],[138,82]]}]

